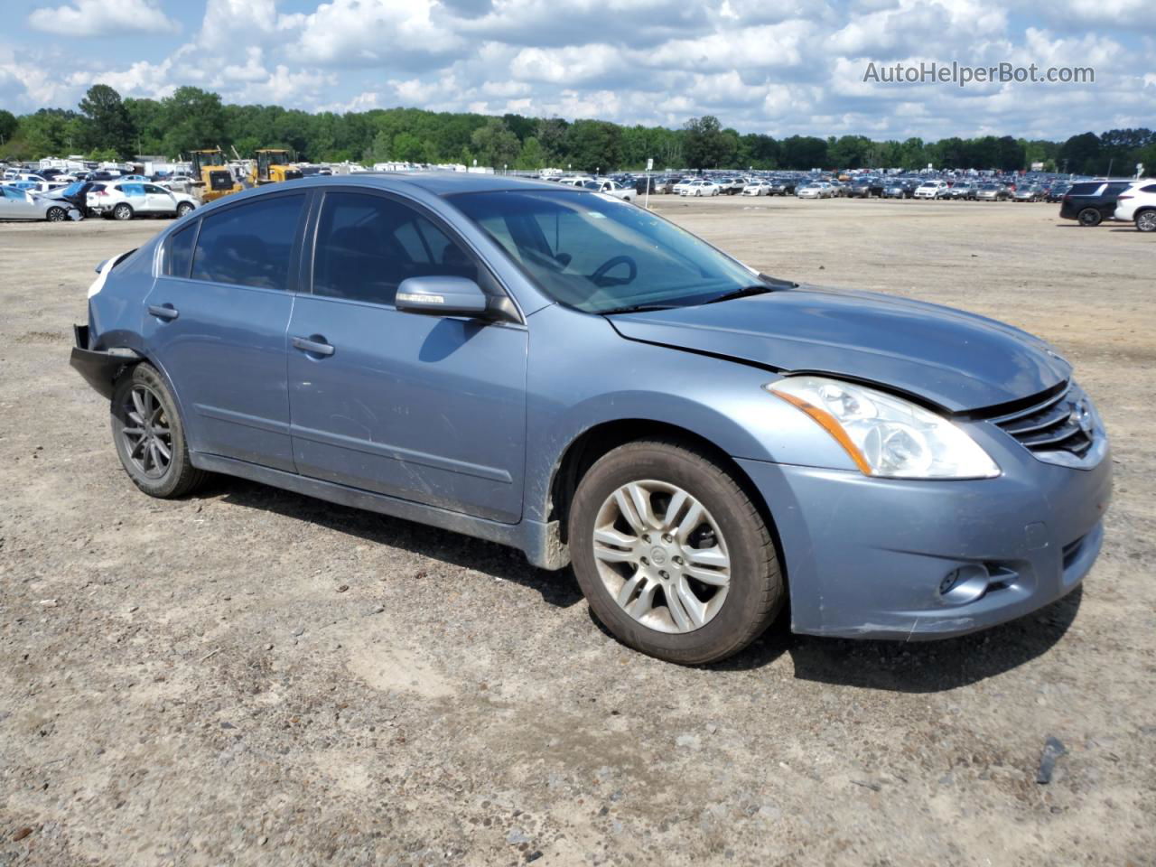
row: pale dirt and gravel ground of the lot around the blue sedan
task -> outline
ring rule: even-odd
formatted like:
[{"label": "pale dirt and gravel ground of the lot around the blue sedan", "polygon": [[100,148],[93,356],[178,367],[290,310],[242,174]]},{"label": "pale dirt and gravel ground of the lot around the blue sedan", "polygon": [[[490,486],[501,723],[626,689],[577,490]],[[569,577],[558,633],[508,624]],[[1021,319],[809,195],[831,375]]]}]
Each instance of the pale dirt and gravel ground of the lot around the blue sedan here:
[{"label": "pale dirt and gravel ground of the lot around the blue sedan", "polygon": [[68,348],[92,267],[163,224],[0,224],[0,865],[1156,864],[1156,238],[1054,205],[652,201],[770,274],[1053,341],[1113,437],[1083,591],[688,669],[495,544],[228,479],[149,499]]}]

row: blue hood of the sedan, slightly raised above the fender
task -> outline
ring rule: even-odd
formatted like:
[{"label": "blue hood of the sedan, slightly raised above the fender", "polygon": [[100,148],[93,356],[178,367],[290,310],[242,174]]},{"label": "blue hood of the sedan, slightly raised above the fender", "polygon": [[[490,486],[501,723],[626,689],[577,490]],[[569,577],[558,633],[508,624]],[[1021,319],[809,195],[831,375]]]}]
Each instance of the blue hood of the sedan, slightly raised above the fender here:
[{"label": "blue hood of the sedan, slightly raised above the fender", "polygon": [[628,340],[874,383],[953,413],[1038,394],[1072,373],[1010,325],[876,292],[799,287],[607,318]]}]

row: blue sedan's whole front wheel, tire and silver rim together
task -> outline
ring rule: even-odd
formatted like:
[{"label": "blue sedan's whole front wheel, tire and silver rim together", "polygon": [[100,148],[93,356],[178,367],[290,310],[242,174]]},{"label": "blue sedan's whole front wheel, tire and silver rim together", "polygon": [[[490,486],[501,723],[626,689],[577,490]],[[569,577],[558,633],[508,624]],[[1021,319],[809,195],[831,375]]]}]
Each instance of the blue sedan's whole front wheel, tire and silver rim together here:
[{"label": "blue sedan's whole front wheel, tire and silver rim together", "polygon": [[623,644],[680,665],[725,659],[783,607],[775,542],[725,467],[670,440],[620,446],[570,510],[575,575]]}]

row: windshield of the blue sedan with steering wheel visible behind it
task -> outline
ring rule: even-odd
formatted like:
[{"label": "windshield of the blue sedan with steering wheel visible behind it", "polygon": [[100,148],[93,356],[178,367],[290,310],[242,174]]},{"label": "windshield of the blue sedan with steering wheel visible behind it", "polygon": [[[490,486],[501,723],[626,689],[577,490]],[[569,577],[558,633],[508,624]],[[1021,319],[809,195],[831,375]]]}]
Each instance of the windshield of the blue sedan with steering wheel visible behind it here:
[{"label": "windshield of the blue sedan with steering wheel visible behind it", "polygon": [[705,242],[614,197],[534,190],[450,200],[550,298],[587,313],[702,304],[761,284]]}]

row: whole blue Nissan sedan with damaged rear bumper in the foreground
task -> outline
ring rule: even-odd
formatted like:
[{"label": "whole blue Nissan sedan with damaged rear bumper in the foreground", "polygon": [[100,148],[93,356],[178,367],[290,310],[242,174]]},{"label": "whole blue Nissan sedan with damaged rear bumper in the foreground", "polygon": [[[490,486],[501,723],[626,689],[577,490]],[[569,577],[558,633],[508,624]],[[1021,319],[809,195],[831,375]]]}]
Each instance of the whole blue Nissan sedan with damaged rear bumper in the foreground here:
[{"label": "whole blue Nissan sedan with damaged rear bumper in the foreground", "polygon": [[146,494],[224,473],[572,562],[622,642],[722,659],[784,606],[918,639],[1096,560],[1107,437],[983,317],[756,273],[557,184],[318,177],[104,264],[72,364]]}]

